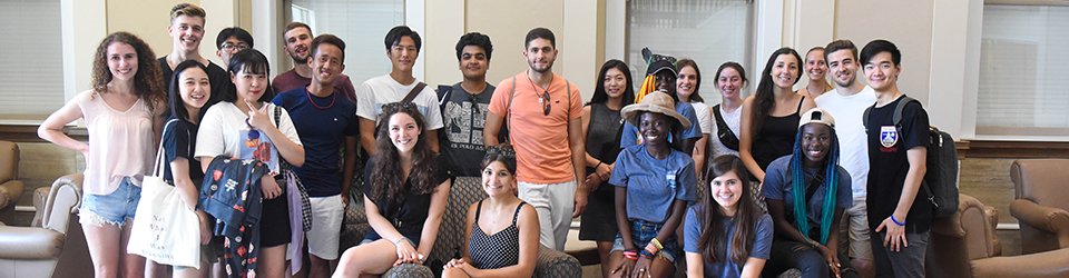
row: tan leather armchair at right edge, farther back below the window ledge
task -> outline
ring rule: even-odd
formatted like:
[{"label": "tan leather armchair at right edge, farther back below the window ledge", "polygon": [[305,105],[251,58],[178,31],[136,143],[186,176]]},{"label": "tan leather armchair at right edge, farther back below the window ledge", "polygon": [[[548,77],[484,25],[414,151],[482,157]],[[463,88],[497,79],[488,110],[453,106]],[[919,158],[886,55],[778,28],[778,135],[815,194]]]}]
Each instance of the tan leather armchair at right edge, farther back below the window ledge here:
[{"label": "tan leather armchair at right edge, farther back below the window ledge", "polygon": [[1010,179],[1010,215],[1021,222],[1022,254],[1069,247],[1069,159],[1018,159]]}]

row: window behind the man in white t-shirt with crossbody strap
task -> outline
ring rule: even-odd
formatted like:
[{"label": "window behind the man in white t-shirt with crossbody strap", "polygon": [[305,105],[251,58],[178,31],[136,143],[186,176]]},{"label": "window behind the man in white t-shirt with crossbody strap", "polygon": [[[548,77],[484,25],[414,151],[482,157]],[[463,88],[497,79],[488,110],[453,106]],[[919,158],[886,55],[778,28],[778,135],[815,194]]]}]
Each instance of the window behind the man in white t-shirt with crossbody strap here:
[{"label": "window behind the man in white t-shirt with crossbody strap", "polygon": [[390,28],[404,24],[404,0],[293,0],[291,18],[312,27],[315,34],[331,33],[345,41],[342,73],[359,87],[390,72],[383,38]]}]

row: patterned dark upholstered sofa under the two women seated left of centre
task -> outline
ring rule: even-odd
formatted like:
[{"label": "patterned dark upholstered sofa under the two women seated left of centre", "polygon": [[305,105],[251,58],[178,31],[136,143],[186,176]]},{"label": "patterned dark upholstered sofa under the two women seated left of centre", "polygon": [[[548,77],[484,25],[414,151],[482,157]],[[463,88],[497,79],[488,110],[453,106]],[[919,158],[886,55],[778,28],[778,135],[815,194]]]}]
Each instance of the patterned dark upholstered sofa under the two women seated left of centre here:
[{"label": "patterned dark upholstered sofa under the two women seated left of centre", "polygon": [[[438,240],[428,256],[425,266],[404,264],[390,269],[383,274],[383,277],[434,277],[435,272],[441,272],[442,264],[459,256],[464,242],[464,218],[468,207],[487,198],[487,193],[479,185],[480,181],[480,177],[457,177],[453,180],[449,190],[449,203],[445,205],[442,225],[438,230]],[[362,201],[353,202],[345,211],[339,251],[344,252],[345,249],[360,244],[360,240],[371,230],[363,205]],[[578,278],[581,276],[582,269],[578,260],[567,254],[540,246],[534,277]]]}]

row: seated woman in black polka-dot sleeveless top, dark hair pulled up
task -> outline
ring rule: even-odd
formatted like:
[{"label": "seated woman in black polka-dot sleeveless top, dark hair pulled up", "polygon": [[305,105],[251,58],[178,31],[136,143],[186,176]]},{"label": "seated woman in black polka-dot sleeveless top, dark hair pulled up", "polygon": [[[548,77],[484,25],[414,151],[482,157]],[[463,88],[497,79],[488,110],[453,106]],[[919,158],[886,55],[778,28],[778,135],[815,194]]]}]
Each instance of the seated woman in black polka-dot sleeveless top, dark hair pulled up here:
[{"label": "seated woman in black polka-dot sleeveless top, dark hair pulled up", "polygon": [[516,197],[512,148],[487,148],[482,189],[489,197],[468,209],[463,258],[445,265],[442,277],[531,277],[538,260],[538,215]]}]

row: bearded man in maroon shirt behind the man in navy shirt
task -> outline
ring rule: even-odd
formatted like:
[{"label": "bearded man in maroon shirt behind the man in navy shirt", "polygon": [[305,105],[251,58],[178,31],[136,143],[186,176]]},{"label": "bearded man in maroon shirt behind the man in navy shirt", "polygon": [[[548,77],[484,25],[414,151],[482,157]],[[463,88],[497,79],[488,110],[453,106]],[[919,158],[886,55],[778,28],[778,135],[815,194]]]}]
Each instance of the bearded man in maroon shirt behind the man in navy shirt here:
[{"label": "bearded man in maroon shirt behind the man in navy shirt", "polygon": [[[271,80],[271,89],[275,93],[305,88],[312,83],[312,66],[308,64],[312,39],[314,38],[312,28],[302,22],[290,22],[282,31],[282,38],[285,40],[285,46],[282,49],[293,59],[293,69],[282,72]],[[252,47],[252,43],[249,43],[249,47]],[[334,78],[334,91],[341,92],[349,100],[356,102],[356,89],[353,88],[353,81],[345,73],[339,73],[337,78]]]}]

